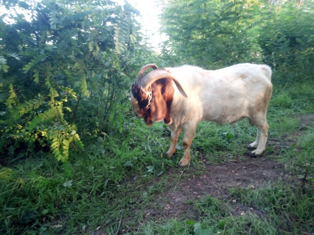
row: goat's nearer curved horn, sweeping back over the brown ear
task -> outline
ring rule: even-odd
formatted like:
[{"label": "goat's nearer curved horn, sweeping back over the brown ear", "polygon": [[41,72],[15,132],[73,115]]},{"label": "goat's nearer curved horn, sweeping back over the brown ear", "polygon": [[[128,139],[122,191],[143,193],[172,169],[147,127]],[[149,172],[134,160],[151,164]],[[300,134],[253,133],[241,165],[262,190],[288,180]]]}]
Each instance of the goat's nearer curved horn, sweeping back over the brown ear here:
[{"label": "goat's nearer curved horn, sweeping back over the brown ear", "polygon": [[161,78],[171,78],[172,81],[174,81],[174,83],[176,84],[176,87],[178,88],[178,90],[180,91],[180,93],[184,96],[187,97],[187,94],[185,93],[185,91],[183,90],[180,82],[171,75],[171,73],[167,72],[166,70],[162,70],[162,69],[158,69],[158,70],[154,70],[149,72],[148,74],[146,74],[142,80],[141,80],[141,86],[144,87],[144,89],[148,89],[148,87],[153,84],[155,81],[161,79]]}]

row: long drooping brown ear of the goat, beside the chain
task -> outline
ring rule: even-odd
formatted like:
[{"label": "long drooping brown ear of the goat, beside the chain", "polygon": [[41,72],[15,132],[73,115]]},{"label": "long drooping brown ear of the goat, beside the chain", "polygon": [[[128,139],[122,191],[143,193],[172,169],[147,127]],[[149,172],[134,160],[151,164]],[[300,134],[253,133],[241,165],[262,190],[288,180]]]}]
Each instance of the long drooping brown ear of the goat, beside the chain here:
[{"label": "long drooping brown ear of the goat, beside the chain", "polygon": [[163,120],[167,114],[167,104],[160,91],[153,92],[150,102],[150,112],[155,122]]}]

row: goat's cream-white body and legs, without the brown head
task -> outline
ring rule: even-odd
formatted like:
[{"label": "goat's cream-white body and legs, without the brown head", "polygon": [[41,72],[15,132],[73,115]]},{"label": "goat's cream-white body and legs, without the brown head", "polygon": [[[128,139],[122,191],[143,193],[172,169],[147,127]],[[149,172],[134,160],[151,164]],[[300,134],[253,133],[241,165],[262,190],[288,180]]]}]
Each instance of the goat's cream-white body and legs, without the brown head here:
[{"label": "goat's cream-white body and legs, without the brown head", "polygon": [[[272,72],[269,66],[245,63],[219,70],[204,70],[184,65],[163,70],[169,72],[174,87],[169,110],[170,122],[167,123],[171,130],[168,157],[175,153],[182,129],[184,156],[179,166],[185,167],[190,162],[190,146],[198,122],[206,120],[234,124],[243,118],[248,118],[250,124],[258,128],[257,138],[250,144],[251,148],[256,148],[252,156],[263,154],[268,131],[267,105],[272,93]],[[187,97],[182,95],[182,90]],[[136,98],[131,98],[135,112],[138,110],[134,104]]]}]

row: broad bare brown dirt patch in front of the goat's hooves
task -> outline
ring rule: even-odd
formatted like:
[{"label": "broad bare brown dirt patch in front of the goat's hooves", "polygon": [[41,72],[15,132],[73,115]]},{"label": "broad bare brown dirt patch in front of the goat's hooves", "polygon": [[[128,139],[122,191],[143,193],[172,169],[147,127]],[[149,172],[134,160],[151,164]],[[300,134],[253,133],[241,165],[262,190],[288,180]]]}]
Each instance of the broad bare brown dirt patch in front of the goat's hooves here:
[{"label": "broad bare brown dirt patch in front of the goat's hooves", "polygon": [[[191,203],[202,196],[212,196],[220,199],[228,199],[230,192],[228,188],[252,187],[258,188],[266,185],[269,181],[282,177],[281,164],[267,159],[252,159],[247,156],[246,161],[228,162],[218,166],[206,165],[203,175],[198,170],[190,169],[180,171],[179,179],[169,178],[166,192],[160,194],[154,203],[159,209],[147,209],[145,212],[163,218],[193,217]],[[178,174],[176,169],[167,172],[169,175]],[[163,204],[163,211],[160,211]],[[249,208],[237,206],[234,213],[243,213]]]}]

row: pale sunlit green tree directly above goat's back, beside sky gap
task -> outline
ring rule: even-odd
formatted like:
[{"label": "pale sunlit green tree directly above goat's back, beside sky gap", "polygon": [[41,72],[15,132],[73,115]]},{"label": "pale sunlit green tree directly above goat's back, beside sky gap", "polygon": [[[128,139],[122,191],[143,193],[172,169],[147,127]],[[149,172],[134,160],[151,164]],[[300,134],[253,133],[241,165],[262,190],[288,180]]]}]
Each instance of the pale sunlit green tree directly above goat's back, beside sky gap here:
[{"label": "pale sunlit green tree directly above goat's back, beside sky gap", "polygon": [[262,15],[254,0],[179,0],[162,3],[161,31],[169,36],[164,52],[184,63],[220,68],[256,58],[257,44],[247,31]]}]

